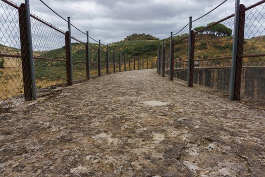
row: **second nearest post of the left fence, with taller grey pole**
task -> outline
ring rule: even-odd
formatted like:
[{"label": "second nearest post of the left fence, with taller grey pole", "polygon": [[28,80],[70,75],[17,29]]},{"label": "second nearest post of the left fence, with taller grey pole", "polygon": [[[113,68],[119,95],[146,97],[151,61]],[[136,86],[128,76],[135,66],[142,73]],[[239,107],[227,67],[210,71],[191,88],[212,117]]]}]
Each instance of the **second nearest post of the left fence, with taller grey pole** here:
[{"label": "second nearest post of the left fence, with taller grey pole", "polygon": [[73,85],[73,58],[72,58],[72,42],[71,42],[71,20],[68,17],[68,31],[65,33],[66,46],[66,75],[67,85]]}]

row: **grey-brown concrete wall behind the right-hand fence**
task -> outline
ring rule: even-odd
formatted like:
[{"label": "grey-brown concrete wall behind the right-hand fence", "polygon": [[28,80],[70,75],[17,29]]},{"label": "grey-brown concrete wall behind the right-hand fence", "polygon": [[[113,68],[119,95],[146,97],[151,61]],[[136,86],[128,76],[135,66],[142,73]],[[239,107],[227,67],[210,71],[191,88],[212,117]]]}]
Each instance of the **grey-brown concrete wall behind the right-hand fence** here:
[{"label": "grey-brown concrete wall behind the right-hand fence", "polygon": [[[230,73],[230,67],[195,68],[194,84],[228,93]],[[187,69],[174,69],[174,76],[187,81]],[[243,67],[241,95],[265,101],[265,67]]]}]

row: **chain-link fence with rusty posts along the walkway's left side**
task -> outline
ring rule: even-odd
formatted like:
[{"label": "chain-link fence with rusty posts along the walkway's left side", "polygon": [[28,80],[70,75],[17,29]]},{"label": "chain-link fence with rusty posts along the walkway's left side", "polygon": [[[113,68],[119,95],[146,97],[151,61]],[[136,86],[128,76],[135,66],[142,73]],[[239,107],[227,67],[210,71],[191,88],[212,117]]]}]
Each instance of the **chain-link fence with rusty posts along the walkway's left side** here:
[{"label": "chain-link fence with rusty posts along the walkway's left side", "polygon": [[[121,48],[108,51],[108,46],[82,32],[70,18],[56,13],[68,23],[63,31],[29,12],[25,4],[0,1],[0,111],[58,87],[113,73],[114,64],[116,72],[132,68],[130,55],[119,54]],[[87,41],[73,37],[71,27],[85,34]],[[88,42],[89,38],[97,43]]]}]

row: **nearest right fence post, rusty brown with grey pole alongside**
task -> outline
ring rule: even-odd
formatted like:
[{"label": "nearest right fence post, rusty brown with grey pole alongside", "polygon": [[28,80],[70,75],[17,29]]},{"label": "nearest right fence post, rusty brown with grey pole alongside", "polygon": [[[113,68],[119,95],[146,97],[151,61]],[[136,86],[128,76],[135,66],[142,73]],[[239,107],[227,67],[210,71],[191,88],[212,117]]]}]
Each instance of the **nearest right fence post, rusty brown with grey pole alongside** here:
[{"label": "nearest right fence post, rusty brown with grey pole alongside", "polygon": [[244,49],[244,29],[245,29],[245,6],[240,5],[236,0],[235,26],[233,34],[233,54],[230,78],[230,100],[240,100],[241,74],[242,74],[242,54]]}]

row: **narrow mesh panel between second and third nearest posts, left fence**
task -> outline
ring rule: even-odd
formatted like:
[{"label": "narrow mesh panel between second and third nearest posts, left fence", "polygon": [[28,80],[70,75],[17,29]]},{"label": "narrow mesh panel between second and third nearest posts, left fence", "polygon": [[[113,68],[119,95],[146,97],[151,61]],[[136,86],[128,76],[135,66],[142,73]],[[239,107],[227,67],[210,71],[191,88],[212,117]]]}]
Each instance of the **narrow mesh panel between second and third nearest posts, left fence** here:
[{"label": "narrow mesh panel between second and third nearest posts, left fence", "polygon": [[72,57],[73,57],[73,79],[79,82],[86,79],[86,53],[85,42],[72,37]]}]

